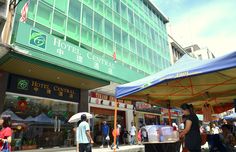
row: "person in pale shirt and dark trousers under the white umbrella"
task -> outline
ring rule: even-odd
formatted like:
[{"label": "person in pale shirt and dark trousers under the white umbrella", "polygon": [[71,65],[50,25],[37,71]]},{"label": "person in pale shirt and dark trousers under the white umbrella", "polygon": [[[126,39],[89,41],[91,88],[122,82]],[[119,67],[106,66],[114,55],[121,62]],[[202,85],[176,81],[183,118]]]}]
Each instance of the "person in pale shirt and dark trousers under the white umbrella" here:
[{"label": "person in pale shirt and dark trousers under the white umbrella", "polygon": [[79,152],[92,152],[91,144],[94,142],[90,135],[89,124],[85,114],[81,115],[81,123],[78,128],[78,142]]}]

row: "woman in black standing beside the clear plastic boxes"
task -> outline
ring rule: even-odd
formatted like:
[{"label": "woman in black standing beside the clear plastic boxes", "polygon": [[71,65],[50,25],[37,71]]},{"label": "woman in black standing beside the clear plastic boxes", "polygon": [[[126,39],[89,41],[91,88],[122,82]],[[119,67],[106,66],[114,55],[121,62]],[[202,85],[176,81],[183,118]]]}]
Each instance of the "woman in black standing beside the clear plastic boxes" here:
[{"label": "woman in black standing beside the clear plastic boxes", "polygon": [[180,133],[180,138],[185,136],[185,147],[190,152],[201,152],[201,135],[198,117],[194,113],[192,105],[182,104],[180,107],[186,117],[185,128]]}]

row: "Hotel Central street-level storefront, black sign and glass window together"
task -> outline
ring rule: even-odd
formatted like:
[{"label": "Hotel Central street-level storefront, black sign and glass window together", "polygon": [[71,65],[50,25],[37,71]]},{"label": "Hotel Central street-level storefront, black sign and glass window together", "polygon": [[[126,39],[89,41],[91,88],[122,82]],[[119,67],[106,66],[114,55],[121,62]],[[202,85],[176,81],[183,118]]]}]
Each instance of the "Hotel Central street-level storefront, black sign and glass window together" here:
[{"label": "Hotel Central street-level storefront, black sign and glass window together", "polygon": [[74,145],[68,119],[78,112],[80,89],[9,74],[2,115],[12,119],[15,150]]}]

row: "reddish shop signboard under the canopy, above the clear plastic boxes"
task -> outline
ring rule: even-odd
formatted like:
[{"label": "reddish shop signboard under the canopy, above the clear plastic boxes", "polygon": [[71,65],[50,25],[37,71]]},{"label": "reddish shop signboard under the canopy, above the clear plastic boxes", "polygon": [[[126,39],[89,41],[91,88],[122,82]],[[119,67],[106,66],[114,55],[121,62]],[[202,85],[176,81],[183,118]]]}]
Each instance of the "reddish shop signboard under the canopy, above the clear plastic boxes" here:
[{"label": "reddish shop signboard under the canopy, above the clear plastic boxes", "polygon": [[151,104],[148,104],[148,103],[145,103],[145,102],[136,102],[135,103],[135,109],[136,109],[136,111],[161,114],[161,108],[160,107],[152,106]]}]

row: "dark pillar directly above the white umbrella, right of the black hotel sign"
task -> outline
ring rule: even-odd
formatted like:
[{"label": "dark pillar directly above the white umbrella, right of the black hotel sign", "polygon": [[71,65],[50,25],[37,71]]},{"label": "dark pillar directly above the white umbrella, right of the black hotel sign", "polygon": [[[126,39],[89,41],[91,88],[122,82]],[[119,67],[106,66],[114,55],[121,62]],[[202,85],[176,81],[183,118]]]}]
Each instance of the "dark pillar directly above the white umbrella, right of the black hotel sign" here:
[{"label": "dark pillar directly above the white umbrella, right of the black hotel sign", "polygon": [[88,112],[89,111],[89,92],[88,90],[81,89],[80,92],[80,103],[78,105],[78,112]]}]

